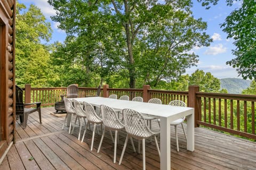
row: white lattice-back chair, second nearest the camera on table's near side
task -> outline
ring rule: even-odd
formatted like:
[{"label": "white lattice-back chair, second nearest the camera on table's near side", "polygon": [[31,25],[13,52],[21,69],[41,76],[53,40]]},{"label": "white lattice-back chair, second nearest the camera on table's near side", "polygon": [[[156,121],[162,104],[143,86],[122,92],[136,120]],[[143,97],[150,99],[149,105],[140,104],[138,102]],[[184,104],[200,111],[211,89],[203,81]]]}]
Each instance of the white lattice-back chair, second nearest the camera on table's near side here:
[{"label": "white lattice-back chair, second nearest the camera on table's near side", "polygon": [[[100,148],[101,148],[101,144],[105,135],[105,131],[109,130],[110,132],[110,137],[112,139],[112,141],[114,142],[114,163],[116,163],[116,146],[117,146],[117,137],[118,137],[118,132],[124,129],[124,124],[118,119],[116,112],[114,111],[113,108],[108,107],[106,105],[101,105],[100,106],[101,112],[102,112],[102,118],[103,118],[103,124],[104,124],[104,130],[102,133],[102,137],[100,140],[100,145],[98,148],[98,153],[100,152]],[[113,139],[112,136],[112,132],[111,131],[115,131],[115,141]],[[135,147],[133,145],[133,141],[131,139],[132,142],[132,147],[134,152],[136,152]]]}]

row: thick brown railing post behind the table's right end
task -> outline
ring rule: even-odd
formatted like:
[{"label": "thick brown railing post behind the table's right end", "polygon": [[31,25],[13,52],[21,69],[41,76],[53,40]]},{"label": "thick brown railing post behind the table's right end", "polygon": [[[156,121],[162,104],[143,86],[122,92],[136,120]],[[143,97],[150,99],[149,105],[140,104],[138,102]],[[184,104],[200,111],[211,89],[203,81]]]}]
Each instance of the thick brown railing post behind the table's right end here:
[{"label": "thick brown railing post behind the table's right end", "polygon": [[188,87],[188,107],[193,107],[195,109],[195,127],[199,127],[197,121],[199,121],[199,111],[198,103],[196,99],[196,92],[199,91],[199,86],[189,86]]}]

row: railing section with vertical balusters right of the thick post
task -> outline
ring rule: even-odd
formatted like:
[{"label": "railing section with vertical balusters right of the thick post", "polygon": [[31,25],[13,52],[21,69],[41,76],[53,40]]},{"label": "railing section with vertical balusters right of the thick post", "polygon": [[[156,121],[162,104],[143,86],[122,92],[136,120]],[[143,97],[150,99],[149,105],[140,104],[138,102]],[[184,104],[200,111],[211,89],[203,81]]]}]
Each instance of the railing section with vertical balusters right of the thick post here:
[{"label": "railing section with vertical balusters right of the thick post", "polygon": [[256,140],[255,95],[196,92],[198,125]]}]

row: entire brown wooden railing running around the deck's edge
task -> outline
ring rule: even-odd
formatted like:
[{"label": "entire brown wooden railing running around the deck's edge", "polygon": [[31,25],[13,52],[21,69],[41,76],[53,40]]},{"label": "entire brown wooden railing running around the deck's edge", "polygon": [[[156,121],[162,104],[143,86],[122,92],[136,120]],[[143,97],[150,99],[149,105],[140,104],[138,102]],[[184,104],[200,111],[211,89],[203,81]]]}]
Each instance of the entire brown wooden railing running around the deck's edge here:
[{"label": "entire brown wooden railing running around the deck's edge", "polygon": [[[25,102],[41,101],[42,106],[54,106],[66,94],[67,88],[31,88],[25,86]],[[97,88],[78,90],[78,97],[95,96]],[[163,104],[171,100],[185,101],[187,106],[195,109],[195,126],[203,125],[212,129],[228,132],[242,137],[256,140],[255,135],[255,95],[234,95],[199,92],[198,86],[189,86],[188,91],[169,91],[150,89],[149,85],[142,89],[114,89],[104,85],[101,89],[102,97],[116,94],[118,98],[128,95],[141,96],[147,102],[150,98],[159,98]]]}]

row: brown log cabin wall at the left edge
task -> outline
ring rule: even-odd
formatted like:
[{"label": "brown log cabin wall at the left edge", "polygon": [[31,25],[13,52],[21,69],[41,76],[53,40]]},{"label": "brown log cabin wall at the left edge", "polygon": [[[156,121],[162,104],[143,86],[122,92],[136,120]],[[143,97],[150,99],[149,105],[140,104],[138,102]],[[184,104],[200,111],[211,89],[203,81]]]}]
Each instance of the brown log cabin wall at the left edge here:
[{"label": "brown log cabin wall at the left edge", "polygon": [[14,141],[15,0],[0,0],[0,158]]}]

